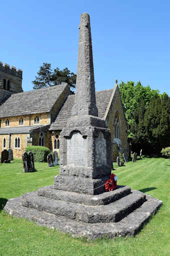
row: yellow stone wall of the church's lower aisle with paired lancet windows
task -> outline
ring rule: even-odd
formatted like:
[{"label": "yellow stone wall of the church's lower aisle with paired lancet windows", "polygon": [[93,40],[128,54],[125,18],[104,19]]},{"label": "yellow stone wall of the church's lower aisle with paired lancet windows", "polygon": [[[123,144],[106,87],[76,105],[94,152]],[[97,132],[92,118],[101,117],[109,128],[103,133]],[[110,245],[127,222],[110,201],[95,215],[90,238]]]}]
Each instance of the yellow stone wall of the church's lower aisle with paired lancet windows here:
[{"label": "yellow stone wall of the church's lower aisle with paired lancet windows", "polygon": [[[10,137],[10,149],[13,151],[13,158],[21,158],[22,154],[25,151],[25,147],[27,146],[27,137],[29,134],[11,134]],[[3,139],[6,139],[6,147],[3,148]],[[20,139],[20,147],[15,148],[15,138]],[[0,156],[1,152],[6,149],[9,149],[9,135],[0,135]]]}]

